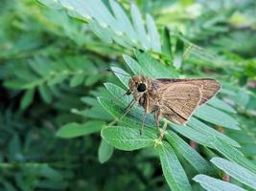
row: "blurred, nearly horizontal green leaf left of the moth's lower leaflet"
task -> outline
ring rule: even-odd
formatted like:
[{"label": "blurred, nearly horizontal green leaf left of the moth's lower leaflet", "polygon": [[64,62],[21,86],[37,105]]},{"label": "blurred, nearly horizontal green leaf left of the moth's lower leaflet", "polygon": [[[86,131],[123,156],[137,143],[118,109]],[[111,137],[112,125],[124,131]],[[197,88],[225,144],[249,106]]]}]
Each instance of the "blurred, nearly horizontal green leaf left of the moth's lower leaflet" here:
[{"label": "blurred, nearly horizontal green leaf left of the moth's lower leaflet", "polygon": [[84,124],[72,122],[60,127],[56,135],[59,138],[77,138],[99,132],[103,125],[103,121],[89,121]]}]

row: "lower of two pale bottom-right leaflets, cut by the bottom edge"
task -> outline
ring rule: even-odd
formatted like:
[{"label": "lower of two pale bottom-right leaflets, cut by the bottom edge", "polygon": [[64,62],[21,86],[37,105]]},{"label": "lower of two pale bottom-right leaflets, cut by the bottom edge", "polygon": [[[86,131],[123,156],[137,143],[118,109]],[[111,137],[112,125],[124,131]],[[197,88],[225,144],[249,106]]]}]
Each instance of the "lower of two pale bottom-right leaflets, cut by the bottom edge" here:
[{"label": "lower of two pale bottom-right leaflets, cut by the bottom edge", "polygon": [[197,181],[208,191],[245,191],[243,188],[235,184],[214,179],[206,175],[197,175],[193,180]]}]

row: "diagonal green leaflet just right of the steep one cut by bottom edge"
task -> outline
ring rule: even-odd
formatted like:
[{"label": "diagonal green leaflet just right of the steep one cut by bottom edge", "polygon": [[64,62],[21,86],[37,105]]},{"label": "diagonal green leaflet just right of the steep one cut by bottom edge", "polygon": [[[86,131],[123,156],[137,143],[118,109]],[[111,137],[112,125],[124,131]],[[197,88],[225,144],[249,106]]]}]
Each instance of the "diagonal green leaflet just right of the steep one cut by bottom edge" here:
[{"label": "diagonal green leaflet just right of the steep one cut by bottom edge", "polygon": [[174,132],[168,131],[168,134],[165,134],[165,138],[167,138],[170,144],[174,147],[175,152],[178,152],[183,156],[184,159],[186,159],[199,173],[208,173],[212,171],[209,163]]}]

